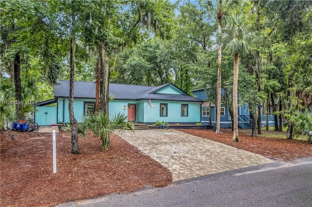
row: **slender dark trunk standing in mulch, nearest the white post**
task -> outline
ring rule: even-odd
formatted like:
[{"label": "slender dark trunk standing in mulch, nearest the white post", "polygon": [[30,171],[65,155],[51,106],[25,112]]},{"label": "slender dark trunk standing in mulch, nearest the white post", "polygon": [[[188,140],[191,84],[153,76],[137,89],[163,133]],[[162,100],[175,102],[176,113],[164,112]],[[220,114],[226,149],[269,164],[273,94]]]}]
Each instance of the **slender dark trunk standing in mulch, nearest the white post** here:
[{"label": "slender dark trunk standing in mulch, nearest the white post", "polygon": [[68,110],[69,110],[69,120],[72,130],[72,154],[79,154],[79,146],[78,146],[78,123],[75,119],[74,115],[74,75],[75,75],[75,68],[74,68],[74,57],[76,51],[76,39],[71,39],[71,47],[70,47],[70,78],[69,78],[69,103],[68,103]]}]

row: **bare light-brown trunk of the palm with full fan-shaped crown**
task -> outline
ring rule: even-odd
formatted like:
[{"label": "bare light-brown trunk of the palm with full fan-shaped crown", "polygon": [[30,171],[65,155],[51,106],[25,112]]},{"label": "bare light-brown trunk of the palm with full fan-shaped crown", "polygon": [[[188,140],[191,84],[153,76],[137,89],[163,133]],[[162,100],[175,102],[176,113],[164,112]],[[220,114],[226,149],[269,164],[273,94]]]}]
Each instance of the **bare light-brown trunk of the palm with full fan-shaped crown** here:
[{"label": "bare light-brown trunk of the palm with full fan-shaped crown", "polygon": [[234,116],[234,131],[233,141],[238,141],[238,111],[237,111],[237,86],[238,86],[238,54],[234,54],[234,79],[233,79],[233,116]]}]

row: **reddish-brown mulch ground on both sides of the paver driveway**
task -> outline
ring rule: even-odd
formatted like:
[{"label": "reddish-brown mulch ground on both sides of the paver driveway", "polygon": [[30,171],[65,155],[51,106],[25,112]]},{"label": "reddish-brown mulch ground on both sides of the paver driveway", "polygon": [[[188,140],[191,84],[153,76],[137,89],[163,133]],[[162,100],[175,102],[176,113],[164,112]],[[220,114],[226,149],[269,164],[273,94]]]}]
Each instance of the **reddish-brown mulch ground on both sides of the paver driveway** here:
[{"label": "reddish-brown mulch ground on both sides of the paver driveway", "polygon": [[[281,138],[251,137],[232,131],[181,129],[256,154],[282,159],[311,157],[312,144]],[[2,132],[0,142],[0,206],[29,207],[132,192],[146,186],[172,183],[171,173],[119,137],[103,152],[97,138],[79,138],[79,155],[70,153],[70,133],[57,134],[57,173],[53,173],[52,135],[34,132]]]}]

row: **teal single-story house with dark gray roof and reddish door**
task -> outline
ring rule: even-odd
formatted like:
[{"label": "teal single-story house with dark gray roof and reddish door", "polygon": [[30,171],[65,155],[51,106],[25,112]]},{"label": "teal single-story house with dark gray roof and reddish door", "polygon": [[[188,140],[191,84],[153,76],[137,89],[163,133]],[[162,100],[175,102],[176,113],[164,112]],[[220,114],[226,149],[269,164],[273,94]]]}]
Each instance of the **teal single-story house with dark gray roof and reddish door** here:
[{"label": "teal single-story house with dark gray roof and reddish door", "polygon": [[[95,111],[95,91],[94,82],[75,81],[74,114],[78,122],[84,113]],[[35,121],[39,125],[69,123],[68,97],[69,81],[60,80],[54,89],[54,99],[35,105]],[[162,86],[110,84],[109,97],[109,114],[126,114],[128,121],[147,124],[201,121],[203,101],[171,83]]]}]

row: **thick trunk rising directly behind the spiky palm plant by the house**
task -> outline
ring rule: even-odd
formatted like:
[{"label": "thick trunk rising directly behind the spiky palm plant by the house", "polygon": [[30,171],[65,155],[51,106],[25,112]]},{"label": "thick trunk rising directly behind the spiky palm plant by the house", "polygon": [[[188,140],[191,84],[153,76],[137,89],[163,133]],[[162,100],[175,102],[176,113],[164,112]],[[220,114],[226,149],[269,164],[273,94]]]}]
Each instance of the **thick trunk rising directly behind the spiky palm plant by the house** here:
[{"label": "thick trunk rising directly behind the spiky palm plant by the house", "polygon": [[105,43],[100,47],[100,110],[104,113],[109,112],[109,65],[108,54],[106,51]]}]

